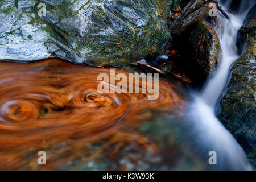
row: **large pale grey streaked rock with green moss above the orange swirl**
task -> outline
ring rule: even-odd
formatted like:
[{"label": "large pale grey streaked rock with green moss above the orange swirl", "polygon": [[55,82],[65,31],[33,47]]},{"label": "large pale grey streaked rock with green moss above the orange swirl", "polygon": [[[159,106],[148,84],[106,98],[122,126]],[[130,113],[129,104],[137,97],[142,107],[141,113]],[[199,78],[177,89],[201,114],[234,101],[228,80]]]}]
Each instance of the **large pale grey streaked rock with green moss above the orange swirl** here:
[{"label": "large pale grey streaked rock with green moss above the orange swirl", "polygon": [[[161,53],[172,0],[4,0],[0,60],[122,65]],[[40,17],[45,3],[46,16]]]}]

